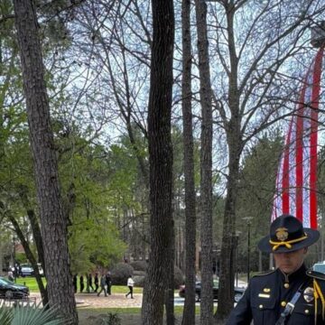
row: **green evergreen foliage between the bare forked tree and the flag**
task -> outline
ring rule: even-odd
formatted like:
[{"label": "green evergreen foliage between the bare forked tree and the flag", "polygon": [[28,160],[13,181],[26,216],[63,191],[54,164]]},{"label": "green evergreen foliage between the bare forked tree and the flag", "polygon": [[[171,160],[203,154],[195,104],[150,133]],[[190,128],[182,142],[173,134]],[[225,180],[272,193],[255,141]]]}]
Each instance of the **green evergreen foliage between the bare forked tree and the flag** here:
[{"label": "green evergreen foliage between the bare forked tree and the flag", "polygon": [[[243,265],[246,259],[248,231],[247,223],[243,218],[252,217],[251,246],[255,247],[257,241],[268,233],[281,151],[281,136],[275,135],[272,138],[270,135],[264,135],[251,150],[246,152],[242,163],[237,197],[237,231],[240,232],[238,253]],[[265,267],[267,263],[267,256],[265,256]],[[251,261],[253,270],[257,269],[257,264],[256,254]]]}]

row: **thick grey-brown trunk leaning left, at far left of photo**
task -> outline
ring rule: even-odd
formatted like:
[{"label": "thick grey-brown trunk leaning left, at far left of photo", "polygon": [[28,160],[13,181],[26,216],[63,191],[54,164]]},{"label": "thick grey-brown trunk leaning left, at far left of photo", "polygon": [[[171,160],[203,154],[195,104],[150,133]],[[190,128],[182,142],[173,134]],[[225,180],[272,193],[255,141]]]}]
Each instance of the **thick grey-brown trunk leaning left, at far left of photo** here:
[{"label": "thick grey-brown trunk leaning left, at far left of photo", "polygon": [[40,206],[49,302],[71,324],[78,324],[70,273],[67,220],[60,198],[58,163],[51,131],[42,49],[32,0],[14,0],[14,14]]}]

